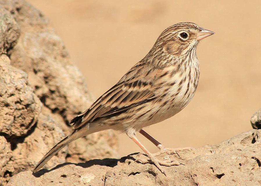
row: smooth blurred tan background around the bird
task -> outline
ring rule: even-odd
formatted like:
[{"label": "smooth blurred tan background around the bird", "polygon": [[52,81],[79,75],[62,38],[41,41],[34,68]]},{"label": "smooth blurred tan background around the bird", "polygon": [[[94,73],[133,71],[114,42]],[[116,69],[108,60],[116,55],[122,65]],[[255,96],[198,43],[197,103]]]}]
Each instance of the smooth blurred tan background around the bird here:
[{"label": "smooth blurred tan background around the bird", "polygon": [[[197,48],[199,86],[187,107],[145,131],[168,147],[216,144],[250,130],[261,107],[260,1],[28,0],[52,22],[98,98],[178,22],[216,32]],[[152,152],[157,148],[141,135]],[[119,135],[121,156],[141,149]]]}]

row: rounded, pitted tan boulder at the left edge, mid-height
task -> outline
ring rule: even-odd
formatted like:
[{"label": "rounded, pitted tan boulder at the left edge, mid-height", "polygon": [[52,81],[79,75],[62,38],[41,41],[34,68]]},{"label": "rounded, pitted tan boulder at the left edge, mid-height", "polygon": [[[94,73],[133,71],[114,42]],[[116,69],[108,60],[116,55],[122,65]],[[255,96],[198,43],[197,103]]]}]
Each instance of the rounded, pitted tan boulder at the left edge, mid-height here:
[{"label": "rounded, pitted tan boulder at the left edge, mid-height", "polygon": [[26,135],[37,121],[41,102],[28,85],[27,74],[0,56],[0,133],[14,141]]}]

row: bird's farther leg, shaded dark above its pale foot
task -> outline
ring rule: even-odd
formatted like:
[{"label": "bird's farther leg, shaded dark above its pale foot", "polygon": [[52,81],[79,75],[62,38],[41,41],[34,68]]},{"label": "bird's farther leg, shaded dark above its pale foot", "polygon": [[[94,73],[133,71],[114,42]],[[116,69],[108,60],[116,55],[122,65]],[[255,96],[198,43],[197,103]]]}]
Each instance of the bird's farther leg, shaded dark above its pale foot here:
[{"label": "bird's farther leg, shaded dark above its pale foot", "polygon": [[157,146],[158,149],[160,149],[160,151],[158,153],[153,154],[154,156],[158,156],[158,155],[163,154],[163,153],[166,153],[166,154],[177,154],[179,156],[179,154],[177,153],[178,151],[191,151],[192,150],[191,147],[176,148],[176,149],[166,148],[164,145],[162,145],[160,142],[155,140],[151,135],[146,133],[144,130],[140,130],[140,133],[143,136],[145,136],[148,140],[150,140],[155,146]]}]

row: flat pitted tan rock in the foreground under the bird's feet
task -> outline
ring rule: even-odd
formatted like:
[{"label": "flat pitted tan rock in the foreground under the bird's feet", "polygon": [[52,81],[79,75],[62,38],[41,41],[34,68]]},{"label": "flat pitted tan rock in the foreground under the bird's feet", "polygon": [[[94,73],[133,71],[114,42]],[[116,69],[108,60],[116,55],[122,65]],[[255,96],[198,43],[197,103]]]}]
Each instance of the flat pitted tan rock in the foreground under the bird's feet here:
[{"label": "flat pitted tan rock in the foreground under the bird's feet", "polygon": [[[261,130],[250,130],[217,145],[206,145],[179,156],[162,154],[160,159],[183,160],[179,166],[164,167],[167,176],[153,164],[135,163],[136,154],[121,159],[64,163],[13,176],[12,185],[260,185]],[[139,157],[139,158],[145,158]]]}]

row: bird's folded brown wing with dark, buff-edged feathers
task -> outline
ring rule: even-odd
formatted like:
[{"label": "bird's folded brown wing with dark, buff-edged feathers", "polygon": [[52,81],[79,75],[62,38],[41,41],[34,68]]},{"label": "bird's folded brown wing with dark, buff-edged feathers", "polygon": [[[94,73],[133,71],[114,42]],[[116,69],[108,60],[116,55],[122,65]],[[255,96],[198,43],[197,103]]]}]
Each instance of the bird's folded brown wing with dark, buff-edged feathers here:
[{"label": "bird's folded brown wing with dark, buff-edged feathers", "polygon": [[70,124],[77,129],[97,118],[108,117],[154,99],[152,79],[148,77],[147,75],[147,78],[120,81],[121,83],[117,83],[103,94],[89,109],[71,120]]}]

